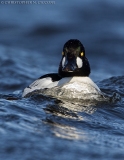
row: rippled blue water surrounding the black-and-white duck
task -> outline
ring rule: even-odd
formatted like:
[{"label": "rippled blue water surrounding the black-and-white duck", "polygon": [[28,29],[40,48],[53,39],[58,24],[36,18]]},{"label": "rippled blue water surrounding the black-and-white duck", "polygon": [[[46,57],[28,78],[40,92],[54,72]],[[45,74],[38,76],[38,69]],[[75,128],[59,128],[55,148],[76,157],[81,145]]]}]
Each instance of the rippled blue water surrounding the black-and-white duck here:
[{"label": "rippled blue water surrounding the black-and-white duck", "polygon": [[[124,2],[0,4],[0,159],[124,159]],[[57,72],[63,44],[79,39],[90,77],[112,98],[78,103],[23,89]]]}]

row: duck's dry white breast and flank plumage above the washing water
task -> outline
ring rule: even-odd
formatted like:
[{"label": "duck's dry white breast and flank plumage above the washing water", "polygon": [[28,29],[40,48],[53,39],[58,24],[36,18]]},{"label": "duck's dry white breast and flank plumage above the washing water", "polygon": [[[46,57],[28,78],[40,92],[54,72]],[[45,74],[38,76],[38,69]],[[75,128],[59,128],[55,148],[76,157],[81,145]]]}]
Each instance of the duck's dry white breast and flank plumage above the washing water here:
[{"label": "duck's dry white breast and flank plumage above the washing water", "polygon": [[64,77],[57,81],[52,81],[51,77],[46,77],[37,79],[29,87],[25,88],[22,96],[25,97],[36,90],[54,87],[82,92],[83,94],[97,94],[101,92],[99,87],[89,77]]}]

